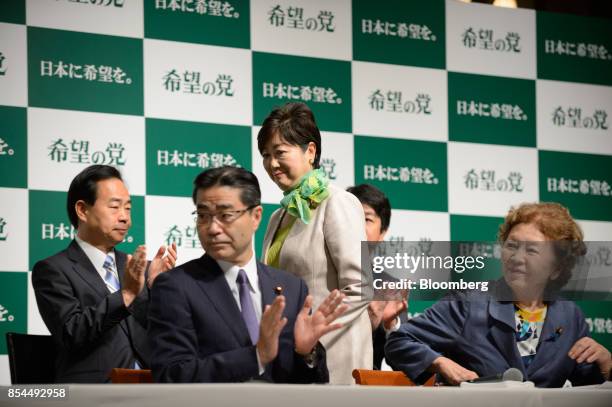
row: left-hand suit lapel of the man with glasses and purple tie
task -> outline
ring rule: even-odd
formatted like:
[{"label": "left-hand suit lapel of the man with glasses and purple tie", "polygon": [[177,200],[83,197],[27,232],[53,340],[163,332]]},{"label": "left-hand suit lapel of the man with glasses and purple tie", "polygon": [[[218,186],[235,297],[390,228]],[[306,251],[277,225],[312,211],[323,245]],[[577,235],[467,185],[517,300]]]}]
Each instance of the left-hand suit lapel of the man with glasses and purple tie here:
[{"label": "left-hand suit lapel of the man with glasses and purple tie", "polygon": [[200,258],[200,270],[198,270],[196,281],[238,342],[245,345],[250,344],[249,331],[232,291],[227,285],[223,271],[217,262],[207,254]]}]

